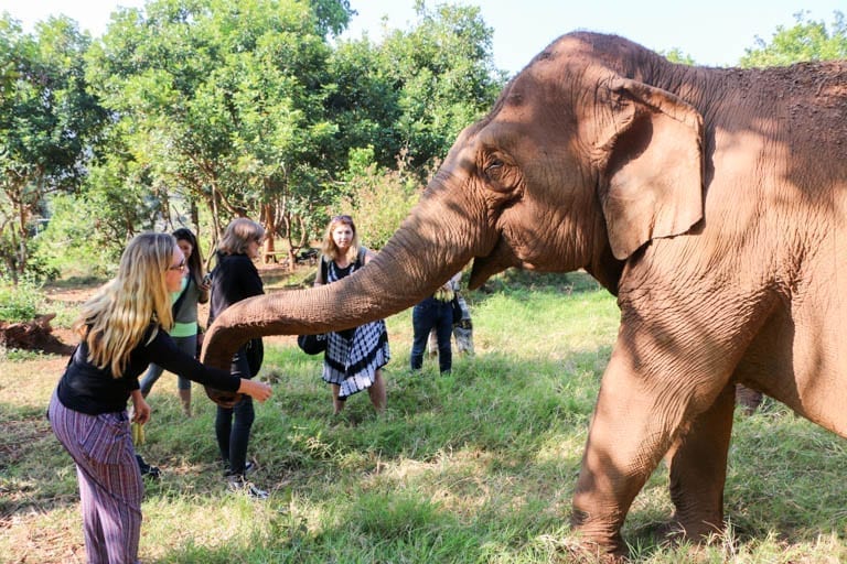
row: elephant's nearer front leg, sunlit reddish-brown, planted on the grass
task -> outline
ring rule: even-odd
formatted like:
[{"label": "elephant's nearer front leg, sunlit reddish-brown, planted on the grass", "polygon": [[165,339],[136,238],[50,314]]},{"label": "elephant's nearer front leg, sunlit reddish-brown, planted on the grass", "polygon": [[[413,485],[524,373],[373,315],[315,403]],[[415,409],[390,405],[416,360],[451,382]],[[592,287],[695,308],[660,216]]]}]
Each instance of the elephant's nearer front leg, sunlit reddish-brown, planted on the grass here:
[{"label": "elephant's nearer front leg, sunlit reddish-brown, planted on the grass", "polygon": [[572,524],[587,543],[625,553],[620,530],[632,500],[684,424],[711,405],[726,386],[693,376],[690,360],[668,350],[635,354],[619,338],[573,495]]}]

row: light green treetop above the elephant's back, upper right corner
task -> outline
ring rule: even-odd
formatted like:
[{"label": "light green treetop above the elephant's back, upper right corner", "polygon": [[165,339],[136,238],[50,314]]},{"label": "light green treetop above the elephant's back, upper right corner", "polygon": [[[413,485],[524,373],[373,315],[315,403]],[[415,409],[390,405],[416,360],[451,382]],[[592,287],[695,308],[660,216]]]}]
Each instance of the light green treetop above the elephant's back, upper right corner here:
[{"label": "light green treetop above the elephant's back, upper right corner", "polygon": [[779,25],[771,42],[755,39],[757,47],[748,48],[740,66],[784,66],[802,61],[847,58],[847,24],[841,12],[834,12],[832,32],[823,21],[807,20],[808,12],[794,14],[793,28]]}]

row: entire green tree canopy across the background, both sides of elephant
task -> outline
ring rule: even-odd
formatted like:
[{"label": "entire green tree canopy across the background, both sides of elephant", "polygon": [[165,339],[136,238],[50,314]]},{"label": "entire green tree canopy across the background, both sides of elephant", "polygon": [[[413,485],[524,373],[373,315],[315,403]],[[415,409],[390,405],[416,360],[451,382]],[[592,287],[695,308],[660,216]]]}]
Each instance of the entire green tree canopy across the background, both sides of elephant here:
[{"label": "entire green tree canopy across the background, both sides of elephant", "polygon": [[[476,7],[418,0],[378,42],[341,37],[354,17],[349,0],[150,0],[93,39],[66,18],[28,34],[4,15],[3,263],[56,271],[73,248],[104,265],[140,230],[212,242],[237,216],[293,258],[342,209],[378,248],[506,73]],[[847,57],[839,12],[796,19],[740,64]]]}]

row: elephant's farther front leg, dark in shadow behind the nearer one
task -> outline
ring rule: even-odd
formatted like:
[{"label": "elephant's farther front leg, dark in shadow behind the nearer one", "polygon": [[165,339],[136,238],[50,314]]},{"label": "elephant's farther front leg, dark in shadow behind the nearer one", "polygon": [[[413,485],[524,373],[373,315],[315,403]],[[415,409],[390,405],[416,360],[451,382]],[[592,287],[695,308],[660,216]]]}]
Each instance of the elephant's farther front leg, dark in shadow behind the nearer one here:
[{"label": "elephant's farther front leg, dark in shadow behind the nearer one", "polygon": [[736,387],[728,384],[667,455],[674,520],[697,540],[723,528],[723,485]]}]

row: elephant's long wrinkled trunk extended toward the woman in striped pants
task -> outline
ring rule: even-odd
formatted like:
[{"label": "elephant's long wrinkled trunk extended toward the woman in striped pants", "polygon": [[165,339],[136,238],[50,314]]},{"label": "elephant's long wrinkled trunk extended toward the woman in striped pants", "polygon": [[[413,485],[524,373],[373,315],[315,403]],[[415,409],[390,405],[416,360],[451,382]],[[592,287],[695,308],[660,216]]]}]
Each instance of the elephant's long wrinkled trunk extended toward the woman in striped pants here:
[{"label": "elephant's long wrinkled trunk extended toward the woman in striped pants", "polygon": [[229,306],[204,338],[203,361],[226,368],[250,338],[355,327],[430,295],[496,241],[493,232],[481,231],[485,217],[473,215],[474,209],[484,214],[484,207],[457,200],[467,192],[449,184],[433,181],[386,247],[354,274],[333,284],[274,292]]}]

